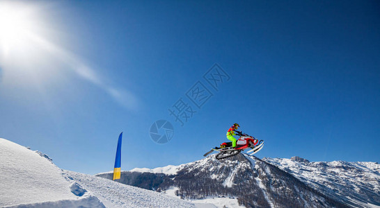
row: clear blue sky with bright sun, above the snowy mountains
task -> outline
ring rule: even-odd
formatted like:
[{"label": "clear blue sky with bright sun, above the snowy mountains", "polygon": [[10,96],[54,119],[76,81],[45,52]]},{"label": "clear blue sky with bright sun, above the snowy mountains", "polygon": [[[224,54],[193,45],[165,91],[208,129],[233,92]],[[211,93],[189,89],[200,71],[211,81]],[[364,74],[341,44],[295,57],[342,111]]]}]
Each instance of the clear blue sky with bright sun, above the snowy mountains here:
[{"label": "clear blue sky with bright sun, above the snowy mountains", "polygon": [[[0,137],[82,173],[202,159],[239,123],[258,157],[379,162],[377,1],[1,1]],[[12,16],[16,14],[16,16]],[[18,16],[17,16],[18,15]],[[7,32],[4,32],[7,31]],[[26,34],[26,35],[25,35]],[[218,91],[203,76],[230,76]],[[186,93],[212,93],[200,108]],[[175,121],[183,98],[196,113]],[[166,144],[150,138],[173,124]]]}]

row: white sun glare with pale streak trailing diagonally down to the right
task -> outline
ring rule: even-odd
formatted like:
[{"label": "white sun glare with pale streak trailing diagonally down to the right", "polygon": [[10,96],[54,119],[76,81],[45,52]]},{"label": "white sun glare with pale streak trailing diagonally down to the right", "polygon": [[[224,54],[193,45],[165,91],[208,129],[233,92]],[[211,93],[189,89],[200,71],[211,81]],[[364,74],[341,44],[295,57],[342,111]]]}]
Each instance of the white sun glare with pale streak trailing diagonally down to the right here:
[{"label": "white sun glare with pale streak trailing diagonally down to the right", "polygon": [[[54,7],[58,8],[45,1],[42,4],[0,0],[0,67],[7,74],[7,84],[30,88],[58,83],[63,73],[71,71],[103,89],[118,103],[134,109],[137,99],[132,93],[107,85],[97,71],[60,44],[58,24],[52,24],[54,18],[48,17]],[[38,89],[42,91],[43,87]]]}]

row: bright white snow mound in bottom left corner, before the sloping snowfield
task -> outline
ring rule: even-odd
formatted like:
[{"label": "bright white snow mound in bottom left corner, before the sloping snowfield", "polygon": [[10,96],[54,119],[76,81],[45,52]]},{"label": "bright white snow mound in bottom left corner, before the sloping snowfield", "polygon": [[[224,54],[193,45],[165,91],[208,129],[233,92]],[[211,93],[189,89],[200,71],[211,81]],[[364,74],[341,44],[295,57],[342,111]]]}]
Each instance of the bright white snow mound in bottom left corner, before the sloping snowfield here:
[{"label": "bright white snow mound in bottom left corner, before the sloping snowfield", "polygon": [[76,196],[45,154],[0,139],[0,207],[104,207],[92,193]]}]

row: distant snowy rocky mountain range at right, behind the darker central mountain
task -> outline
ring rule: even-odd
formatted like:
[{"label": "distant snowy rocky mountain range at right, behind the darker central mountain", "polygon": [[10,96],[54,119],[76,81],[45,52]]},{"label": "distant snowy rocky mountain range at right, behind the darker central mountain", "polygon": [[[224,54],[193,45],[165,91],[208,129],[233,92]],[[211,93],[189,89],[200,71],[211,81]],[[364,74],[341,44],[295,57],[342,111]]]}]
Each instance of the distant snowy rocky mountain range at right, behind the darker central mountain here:
[{"label": "distant snowy rocky mountain range at right, behind the darker central mountain", "polygon": [[353,207],[380,206],[380,165],[377,162],[309,162],[301,157],[263,160],[334,200]]}]

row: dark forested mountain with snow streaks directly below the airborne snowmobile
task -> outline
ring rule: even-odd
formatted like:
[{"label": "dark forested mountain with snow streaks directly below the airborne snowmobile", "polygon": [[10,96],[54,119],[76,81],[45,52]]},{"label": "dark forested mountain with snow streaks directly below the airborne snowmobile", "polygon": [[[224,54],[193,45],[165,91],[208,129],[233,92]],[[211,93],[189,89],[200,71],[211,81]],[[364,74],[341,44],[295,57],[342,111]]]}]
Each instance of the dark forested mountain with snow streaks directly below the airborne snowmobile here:
[{"label": "dark forested mountain with snow streaks directly below the airborne snowmobile", "polygon": [[[301,157],[291,161],[312,164]],[[162,192],[174,187],[175,196],[187,200],[235,198],[239,205],[246,207],[377,207],[379,202],[377,198],[367,204],[362,198],[349,201],[331,197],[331,193],[311,186],[278,164],[248,155],[222,160],[209,155],[196,162],[170,166],[175,174],[166,174],[164,169],[122,171],[119,182]],[[111,173],[97,176],[111,178]]]}]

